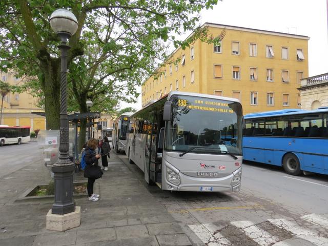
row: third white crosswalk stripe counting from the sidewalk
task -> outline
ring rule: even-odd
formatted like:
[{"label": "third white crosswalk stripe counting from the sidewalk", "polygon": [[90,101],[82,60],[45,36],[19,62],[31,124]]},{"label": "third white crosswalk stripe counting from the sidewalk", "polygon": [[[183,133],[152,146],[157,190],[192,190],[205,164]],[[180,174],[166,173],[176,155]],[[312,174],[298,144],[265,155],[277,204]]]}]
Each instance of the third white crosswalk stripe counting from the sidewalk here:
[{"label": "third white crosswalk stripe counting from the sidewalk", "polygon": [[269,219],[269,221],[275,224],[277,227],[289,231],[296,236],[307,240],[318,246],[328,246],[328,239],[324,237],[319,237],[317,233],[303,229],[291,221],[286,219]]}]

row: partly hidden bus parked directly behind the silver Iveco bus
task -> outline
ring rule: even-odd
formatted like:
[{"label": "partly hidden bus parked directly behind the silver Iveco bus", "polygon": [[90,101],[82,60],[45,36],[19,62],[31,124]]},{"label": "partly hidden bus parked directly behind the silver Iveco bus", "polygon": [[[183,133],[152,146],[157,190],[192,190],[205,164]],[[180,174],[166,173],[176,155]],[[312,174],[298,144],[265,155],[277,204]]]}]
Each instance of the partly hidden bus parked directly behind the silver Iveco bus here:
[{"label": "partly hidden bus parked directly behind the silver Iveco bus", "polygon": [[117,153],[126,149],[128,124],[132,114],[132,112],[122,113],[113,123],[112,145]]}]

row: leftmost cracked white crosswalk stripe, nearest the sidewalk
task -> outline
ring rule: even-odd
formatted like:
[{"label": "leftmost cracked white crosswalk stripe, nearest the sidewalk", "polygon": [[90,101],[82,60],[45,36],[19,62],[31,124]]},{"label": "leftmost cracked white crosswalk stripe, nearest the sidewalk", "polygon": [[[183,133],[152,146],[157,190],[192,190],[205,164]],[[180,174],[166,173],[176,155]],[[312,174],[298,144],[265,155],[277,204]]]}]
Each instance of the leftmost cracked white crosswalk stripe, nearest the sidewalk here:
[{"label": "leftmost cracked white crosswalk stripe, nearest the sidewalk", "polygon": [[208,246],[232,245],[231,242],[219,232],[213,235],[215,231],[214,224],[191,224],[188,227]]}]

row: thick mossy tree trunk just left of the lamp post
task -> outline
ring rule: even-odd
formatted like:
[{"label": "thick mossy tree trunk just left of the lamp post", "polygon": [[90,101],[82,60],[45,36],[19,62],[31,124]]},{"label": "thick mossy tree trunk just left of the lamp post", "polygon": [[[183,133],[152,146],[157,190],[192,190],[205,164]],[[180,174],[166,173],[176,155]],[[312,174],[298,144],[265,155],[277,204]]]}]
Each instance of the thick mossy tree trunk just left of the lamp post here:
[{"label": "thick mossy tree trunk just left of the lamp post", "polygon": [[50,63],[42,64],[44,78],[42,89],[45,94],[45,112],[47,130],[58,130],[60,128],[60,76],[59,60],[52,60]]}]

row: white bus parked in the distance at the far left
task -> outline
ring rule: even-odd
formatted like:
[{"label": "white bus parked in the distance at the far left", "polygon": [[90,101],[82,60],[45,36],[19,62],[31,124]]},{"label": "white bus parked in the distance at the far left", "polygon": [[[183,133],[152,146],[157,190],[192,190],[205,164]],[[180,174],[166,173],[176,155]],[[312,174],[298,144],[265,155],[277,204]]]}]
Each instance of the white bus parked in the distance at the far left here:
[{"label": "white bus parked in the distance at the far left", "polygon": [[0,146],[30,141],[30,127],[0,125]]}]

